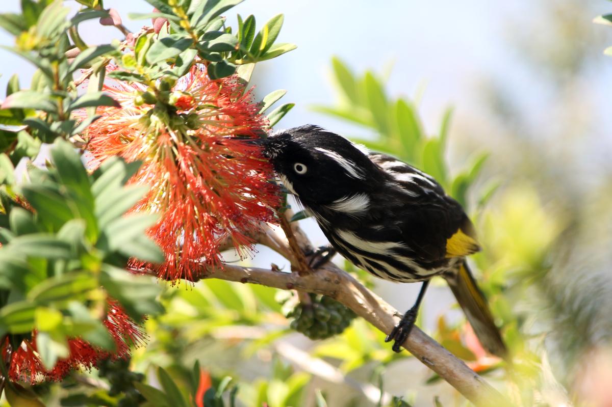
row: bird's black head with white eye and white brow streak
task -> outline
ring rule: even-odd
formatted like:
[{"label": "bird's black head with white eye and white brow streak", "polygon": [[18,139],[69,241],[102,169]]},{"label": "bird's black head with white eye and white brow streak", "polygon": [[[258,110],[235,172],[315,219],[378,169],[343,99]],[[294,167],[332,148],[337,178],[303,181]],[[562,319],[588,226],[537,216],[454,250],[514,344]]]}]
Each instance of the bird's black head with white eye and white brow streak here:
[{"label": "bird's black head with white eye and white brow streak", "polygon": [[264,142],[264,156],[304,204],[329,204],[368,192],[381,177],[364,149],[313,125],[272,134]]}]

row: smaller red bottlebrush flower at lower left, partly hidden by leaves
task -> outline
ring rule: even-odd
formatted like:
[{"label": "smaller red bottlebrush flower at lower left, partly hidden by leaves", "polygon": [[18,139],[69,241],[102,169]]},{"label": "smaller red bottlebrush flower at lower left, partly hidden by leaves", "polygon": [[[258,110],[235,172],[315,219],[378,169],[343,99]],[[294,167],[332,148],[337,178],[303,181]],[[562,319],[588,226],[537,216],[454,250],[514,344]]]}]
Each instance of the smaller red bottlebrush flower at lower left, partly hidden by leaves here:
[{"label": "smaller red bottlebrush flower at lower left, partly hidden by leaves", "polygon": [[[114,300],[108,301],[108,314],[103,321],[108,333],[113,337],[116,350],[109,352],[94,347],[80,338],[68,340],[69,356],[59,359],[53,369],[47,370],[40,361],[36,350],[36,331],[31,339],[24,339],[17,349],[13,349],[10,356],[9,377],[12,381],[26,381],[40,383],[45,380],[62,380],[72,370],[92,369],[102,359],[127,358],[130,354],[130,345],[141,345],[146,339],[134,321],[125,314],[124,310]],[[7,356],[8,339],[4,343],[4,358]]]}]

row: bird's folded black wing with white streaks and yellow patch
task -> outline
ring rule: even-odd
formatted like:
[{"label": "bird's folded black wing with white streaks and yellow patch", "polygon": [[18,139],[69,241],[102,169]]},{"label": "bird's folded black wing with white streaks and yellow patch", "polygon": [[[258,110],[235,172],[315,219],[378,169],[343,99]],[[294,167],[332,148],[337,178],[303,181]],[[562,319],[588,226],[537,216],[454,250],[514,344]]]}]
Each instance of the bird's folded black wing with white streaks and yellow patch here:
[{"label": "bird's folded black wing with white streaks and yellow patch", "polygon": [[[449,257],[480,250],[472,222],[435,178],[389,155],[371,153],[370,160],[390,175],[395,188],[406,192],[401,217],[393,220],[424,265],[435,266]],[[389,196],[394,194],[390,191]]]}]

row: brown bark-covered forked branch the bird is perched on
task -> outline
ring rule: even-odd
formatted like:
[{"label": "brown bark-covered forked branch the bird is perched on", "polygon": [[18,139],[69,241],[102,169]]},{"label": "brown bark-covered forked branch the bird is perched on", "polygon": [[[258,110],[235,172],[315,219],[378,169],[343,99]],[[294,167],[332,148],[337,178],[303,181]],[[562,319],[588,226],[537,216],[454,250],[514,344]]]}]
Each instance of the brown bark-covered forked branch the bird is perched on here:
[{"label": "brown bark-covered forked branch the bird is perched on", "polygon": [[[255,240],[283,255],[291,262],[293,270],[299,270],[299,263],[302,262],[295,259],[295,248],[292,246],[297,244],[302,252],[312,252],[312,245],[297,222],[291,223],[291,229],[293,244],[289,244],[287,238],[280,235],[278,228],[266,224],[262,225]],[[399,321],[398,316],[401,316],[394,307],[334,263],[327,263],[313,273],[301,274],[236,265],[224,265],[223,268],[203,265],[201,273],[193,281],[211,278],[330,296],[385,334],[391,332]],[[510,406],[509,400],[487,381],[416,326],[403,347],[475,405]]]}]

